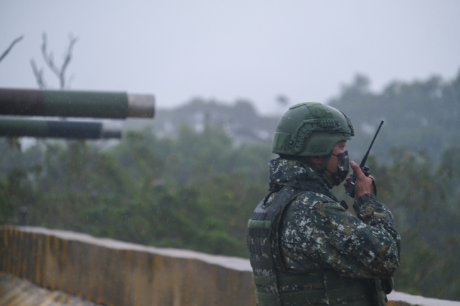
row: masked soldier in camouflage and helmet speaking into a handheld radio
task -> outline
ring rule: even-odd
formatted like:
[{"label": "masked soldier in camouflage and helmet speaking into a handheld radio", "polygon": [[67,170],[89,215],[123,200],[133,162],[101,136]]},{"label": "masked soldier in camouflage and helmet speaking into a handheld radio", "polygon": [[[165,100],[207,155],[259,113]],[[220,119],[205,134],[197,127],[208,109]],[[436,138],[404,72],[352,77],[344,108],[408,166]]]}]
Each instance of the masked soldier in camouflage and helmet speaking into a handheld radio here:
[{"label": "masked soldier in camouflage and helmet speaking into a handheld radio", "polygon": [[386,305],[399,266],[393,216],[355,162],[357,217],[330,191],[347,177],[353,135],[350,119],[321,103],[294,105],[280,120],[270,193],[248,222],[258,306]]}]

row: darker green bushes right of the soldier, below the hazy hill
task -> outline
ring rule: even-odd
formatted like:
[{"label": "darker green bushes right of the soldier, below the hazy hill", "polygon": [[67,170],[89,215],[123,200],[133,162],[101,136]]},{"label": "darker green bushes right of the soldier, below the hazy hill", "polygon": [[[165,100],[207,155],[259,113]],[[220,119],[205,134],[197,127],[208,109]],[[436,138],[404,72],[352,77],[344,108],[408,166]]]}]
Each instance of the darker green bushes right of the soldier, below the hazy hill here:
[{"label": "darker green bushes right of the soldier, below the hazy hill", "polygon": [[396,290],[460,300],[459,150],[446,148],[435,164],[425,153],[402,150],[391,152],[388,165],[369,160],[379,200],[389,206],[401,233]]}]

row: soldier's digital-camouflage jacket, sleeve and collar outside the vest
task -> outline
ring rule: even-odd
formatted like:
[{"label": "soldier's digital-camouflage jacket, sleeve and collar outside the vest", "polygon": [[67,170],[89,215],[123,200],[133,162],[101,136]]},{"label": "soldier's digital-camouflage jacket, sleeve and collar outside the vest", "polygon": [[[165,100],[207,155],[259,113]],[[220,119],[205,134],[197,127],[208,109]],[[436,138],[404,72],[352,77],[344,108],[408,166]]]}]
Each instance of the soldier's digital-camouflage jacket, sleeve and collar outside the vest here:
[{"label": "soldier's digital-camouflage jacket, sleeve and collar outside the vest", "polygon": [[[270,162],[271,186],[295,181],[333,187],[325,175],[296,160]],[[391,276],[399,266],[401,242],[391,212],[374,194],[364,194],[353,208],[357,217],[323,194],[297,196],[280,224],[281,256],[287,271],[310,274],[333,270],[354,278]]]}]

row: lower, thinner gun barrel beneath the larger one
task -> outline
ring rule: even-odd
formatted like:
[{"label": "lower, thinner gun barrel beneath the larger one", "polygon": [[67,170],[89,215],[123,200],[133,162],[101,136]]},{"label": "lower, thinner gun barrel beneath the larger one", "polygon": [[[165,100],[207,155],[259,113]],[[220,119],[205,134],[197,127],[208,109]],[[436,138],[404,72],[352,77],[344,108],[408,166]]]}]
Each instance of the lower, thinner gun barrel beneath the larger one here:
[{"label": "lower, thinner gun barrel beneath the larger one", "polygon": [[119,139],[121,126],[114,125],[110,122],[0,118],[0,137]]}]

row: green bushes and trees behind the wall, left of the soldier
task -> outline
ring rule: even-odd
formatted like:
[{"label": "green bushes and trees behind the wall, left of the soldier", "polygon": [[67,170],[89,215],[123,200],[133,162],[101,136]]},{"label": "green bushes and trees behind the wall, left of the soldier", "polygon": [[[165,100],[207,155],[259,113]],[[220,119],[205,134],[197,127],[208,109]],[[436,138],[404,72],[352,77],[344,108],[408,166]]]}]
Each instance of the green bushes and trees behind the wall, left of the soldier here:
[{"label": "green bushes and trees behind the wall, left of the soldier", "polygon": [[183,127],[177,139],[133,131],[108,150],[82,141],[8,148],[1,223],[246,257],[246,222],[267,187],[270,148],[234,148],[222,127]]}]

